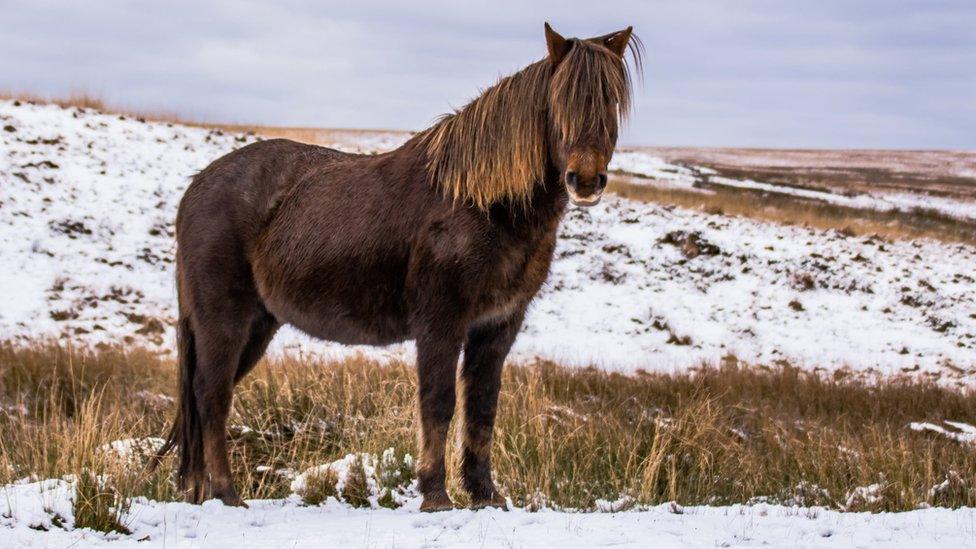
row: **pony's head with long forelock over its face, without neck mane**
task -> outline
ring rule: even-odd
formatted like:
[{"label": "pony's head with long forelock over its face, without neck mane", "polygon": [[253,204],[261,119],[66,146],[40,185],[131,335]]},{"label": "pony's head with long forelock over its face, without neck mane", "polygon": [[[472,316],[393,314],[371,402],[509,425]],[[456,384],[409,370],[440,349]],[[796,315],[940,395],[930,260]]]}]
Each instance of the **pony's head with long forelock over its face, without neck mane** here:
[{"label": "pony's head with long forelock over its face, without neck mane", "polygon": [[[549,150],[570,200],[600,201],[620,121],[630,110],[628,47],[640,69],[640,41],[633,27],[596,38],[563,38],[546,23],[549,82]],[[632,42],[633,39],[633,42]]]}]

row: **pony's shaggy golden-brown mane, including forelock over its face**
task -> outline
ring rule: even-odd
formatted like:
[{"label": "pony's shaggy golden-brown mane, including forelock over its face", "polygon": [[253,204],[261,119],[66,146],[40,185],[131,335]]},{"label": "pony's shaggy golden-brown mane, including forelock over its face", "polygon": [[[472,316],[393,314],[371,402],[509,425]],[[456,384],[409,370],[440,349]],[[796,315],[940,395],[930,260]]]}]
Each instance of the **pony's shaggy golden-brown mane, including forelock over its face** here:
[{"label": "pony's shaggy golden-brown mane, including forelock over its face", "polygon": [[[627,117],[627,63],[602,45],[572,42],[555,70],[548,59],[537,61],[421,134],[431,181],[445,195],[482,210],[524,204],[545,177],[550,123],[573,141],[609,137],[609,118]],[[640,39],[633,36],[629,48],[640,70]]]}]

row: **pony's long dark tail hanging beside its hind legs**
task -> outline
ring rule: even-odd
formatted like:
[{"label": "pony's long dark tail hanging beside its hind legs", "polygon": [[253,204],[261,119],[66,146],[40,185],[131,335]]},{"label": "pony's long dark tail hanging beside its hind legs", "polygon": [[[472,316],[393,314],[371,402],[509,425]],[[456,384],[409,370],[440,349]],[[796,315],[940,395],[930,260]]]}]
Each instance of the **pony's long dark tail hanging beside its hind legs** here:
[{"label": "pony's long dark tail hanging beside its hind legs", "polygon": [[166,435],[166,442],[156,452],[152,468],[155,468],[173,448],[178,448],[179,469],[176,472],[176,485],[179,490],[184,491],[189,474],[203,470],[203,436],[196,396],[193,393],[193,376],[197,365],[196,345],[190,319],[182,311],[176,325],[176,347],[179,362],[179,406],[176,409],[173,426]]}]

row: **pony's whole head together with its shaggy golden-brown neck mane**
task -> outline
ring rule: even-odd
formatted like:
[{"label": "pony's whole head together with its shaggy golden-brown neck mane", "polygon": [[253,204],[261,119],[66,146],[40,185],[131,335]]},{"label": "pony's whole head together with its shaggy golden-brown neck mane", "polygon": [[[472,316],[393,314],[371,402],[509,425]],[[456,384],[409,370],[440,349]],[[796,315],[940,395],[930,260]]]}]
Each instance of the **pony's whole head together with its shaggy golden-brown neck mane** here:
[{"label": "pony's whole head together with its shaggy golden-brown neck mane", "polygon": [[550,168],[574,203],[592,206],[607,184],[617,129],[630,110],[625,52],[641,69],[631,28],[563,38],[546,24],[549,55],[491,86],[419,136],[430,181],[456,201],[487,210],[527,204]]}]

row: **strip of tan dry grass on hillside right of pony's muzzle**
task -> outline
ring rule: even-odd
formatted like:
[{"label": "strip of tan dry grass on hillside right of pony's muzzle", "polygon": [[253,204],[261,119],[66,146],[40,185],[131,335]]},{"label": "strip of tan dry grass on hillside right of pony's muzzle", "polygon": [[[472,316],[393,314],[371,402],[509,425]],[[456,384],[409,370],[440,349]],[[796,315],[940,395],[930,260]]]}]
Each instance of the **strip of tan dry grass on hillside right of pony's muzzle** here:
[{"label": "strip of tan dry grass on hillside right of pony's muzzle", "polygon": [[796,196],[718,186],[709,188],[712,193],[701,193],[643,185],[633,178],[620,175],[610,179],[608,190],[633,200],[673,204],[785,225],[834,229],[859,236],[880,235],[893,240],[932,238],[976,245],[976,223],[931,210],[885,212],[849,208]]}]

